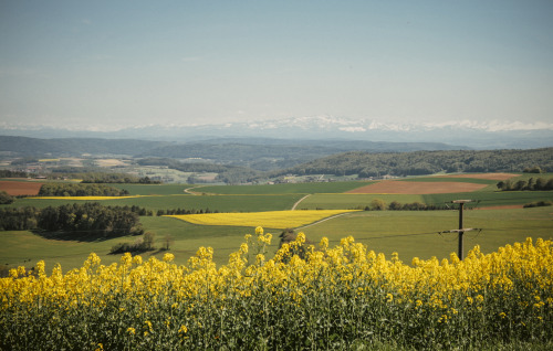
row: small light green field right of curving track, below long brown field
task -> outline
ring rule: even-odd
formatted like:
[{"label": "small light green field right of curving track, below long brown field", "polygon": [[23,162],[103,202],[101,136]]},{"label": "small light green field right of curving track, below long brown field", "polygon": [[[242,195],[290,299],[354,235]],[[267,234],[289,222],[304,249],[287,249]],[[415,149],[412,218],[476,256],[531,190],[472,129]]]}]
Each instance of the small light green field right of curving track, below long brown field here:
[{"label": "small light green field right of curving track, below long brown field", "polygon": [[313,194],[305,198],[298,205],[298,210],[343,210],[343,209],[364,209],[371,206],[371,202],[380,199],[386,204],[392,201],[399,203],[424,202],[421,195],[406,194]]}]

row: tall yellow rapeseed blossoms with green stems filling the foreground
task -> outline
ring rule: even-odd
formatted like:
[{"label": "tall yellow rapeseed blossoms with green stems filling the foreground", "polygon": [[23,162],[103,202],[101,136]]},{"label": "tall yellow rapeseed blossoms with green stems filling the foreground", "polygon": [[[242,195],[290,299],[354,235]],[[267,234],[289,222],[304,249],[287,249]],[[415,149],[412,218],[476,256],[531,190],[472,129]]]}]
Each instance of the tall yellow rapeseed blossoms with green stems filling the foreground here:
[{"label": "tall yellow rapeseed blossoms with green stems filling the foreground", "polygon": [[258,227],[227,265],[200,247],[187,265],[125,254],[46,275],[44,263],[0,279],[0,349],[348,349],[394,340],[460,349],[490,340],[551,342],[553,243],[529,238],[460,260],[386,259],[353,237],[305,235],[265,257]]}]

